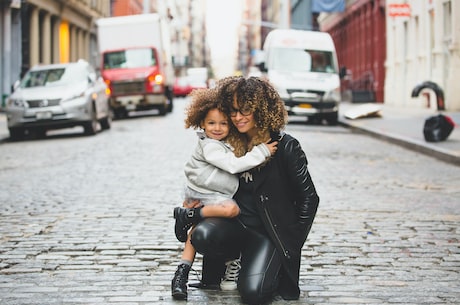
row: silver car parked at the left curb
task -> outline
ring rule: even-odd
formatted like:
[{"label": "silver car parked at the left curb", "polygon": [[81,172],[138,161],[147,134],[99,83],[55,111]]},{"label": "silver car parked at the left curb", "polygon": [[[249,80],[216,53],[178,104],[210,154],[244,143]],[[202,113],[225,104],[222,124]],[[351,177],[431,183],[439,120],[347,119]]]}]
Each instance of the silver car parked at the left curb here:
[{"label": "silver car parked at the left curb", "polygon": [[26,133],[45,136],[50,129],[83,126],[94,135],[98,124],[109,129],[112,114],[107,85],[86,61],[31,68],[6,102],[11,139]]}]

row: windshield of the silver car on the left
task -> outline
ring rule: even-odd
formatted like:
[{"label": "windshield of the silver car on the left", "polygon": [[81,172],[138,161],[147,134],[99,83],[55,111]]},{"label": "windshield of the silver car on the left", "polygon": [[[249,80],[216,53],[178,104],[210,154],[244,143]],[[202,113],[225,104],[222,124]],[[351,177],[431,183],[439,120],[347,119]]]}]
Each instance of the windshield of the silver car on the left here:
[{"label": "windshield of the silver car on the left", "polygon": [[70,65],[52,69],[31,70],[24,75],[20,87],[65,86],[87,80],[87,74],[83,67]]}]

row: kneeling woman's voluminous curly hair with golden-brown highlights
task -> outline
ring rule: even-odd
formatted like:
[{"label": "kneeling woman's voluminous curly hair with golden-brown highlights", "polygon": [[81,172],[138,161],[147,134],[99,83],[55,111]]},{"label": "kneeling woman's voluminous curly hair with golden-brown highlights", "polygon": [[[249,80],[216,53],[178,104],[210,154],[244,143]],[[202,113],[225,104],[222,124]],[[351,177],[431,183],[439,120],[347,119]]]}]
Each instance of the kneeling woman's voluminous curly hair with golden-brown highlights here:
[{"label": "kneeling woman's voluminous curly hair with golden-brown highlights", "polygon": [[286,126],[288,116],[284,102],[267,80],[230,76],[218,81],[215,89],[218,91],[222,109],[228,117],[235,99],[238,108],[250,110],[254,114],[258,134],[251,139],[251,143],[246,135],[239,133],[236,127],[230,124],[227,142],[235,149],[236,156],[244,155],[254,145],[267,141],[271,132],[279,132]]}]

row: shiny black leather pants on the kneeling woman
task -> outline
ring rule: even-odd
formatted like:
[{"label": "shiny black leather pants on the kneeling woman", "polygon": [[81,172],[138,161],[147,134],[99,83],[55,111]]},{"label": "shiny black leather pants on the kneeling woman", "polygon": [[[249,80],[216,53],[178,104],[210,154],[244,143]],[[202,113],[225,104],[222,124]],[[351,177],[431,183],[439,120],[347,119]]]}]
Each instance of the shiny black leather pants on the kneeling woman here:
[{"label": "shiny black leather pants on the kneeling woman", "polygon": [[209,274],[222,270],[222,262],[241,253],[238,290],[243,302],[262,304],[276,292],[281,257],[268,236],[245,227],[237,219],[207,218],[196,225],[191,239],[196,251],[204,256],[203,281],[220,281],[220,272]]}]

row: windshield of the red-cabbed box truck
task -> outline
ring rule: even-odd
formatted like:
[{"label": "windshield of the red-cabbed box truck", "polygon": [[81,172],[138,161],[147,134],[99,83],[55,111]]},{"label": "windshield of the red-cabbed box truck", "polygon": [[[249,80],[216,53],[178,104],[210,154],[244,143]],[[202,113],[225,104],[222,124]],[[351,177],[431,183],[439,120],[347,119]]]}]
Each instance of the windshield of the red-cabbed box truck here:
[{"label": "windshield of the red-cabbed box truck", "polygon": [[104,54],[104,69],[142,68],[156,65],[152,49],[128,49]]}]

